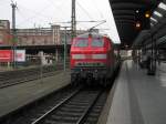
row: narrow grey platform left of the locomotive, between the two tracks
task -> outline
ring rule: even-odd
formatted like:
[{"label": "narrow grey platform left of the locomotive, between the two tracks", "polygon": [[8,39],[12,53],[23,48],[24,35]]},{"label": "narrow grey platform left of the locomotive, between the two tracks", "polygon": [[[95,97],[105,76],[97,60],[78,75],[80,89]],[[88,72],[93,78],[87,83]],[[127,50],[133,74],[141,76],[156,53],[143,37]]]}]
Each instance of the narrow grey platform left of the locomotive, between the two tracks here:
[{"label": "narrow grey platform left of the locomotive, between the two tracks", "polygon": [[69,83],[70,71],[59,71],[54,76],[0,89],[0,116],[68,85]]}]

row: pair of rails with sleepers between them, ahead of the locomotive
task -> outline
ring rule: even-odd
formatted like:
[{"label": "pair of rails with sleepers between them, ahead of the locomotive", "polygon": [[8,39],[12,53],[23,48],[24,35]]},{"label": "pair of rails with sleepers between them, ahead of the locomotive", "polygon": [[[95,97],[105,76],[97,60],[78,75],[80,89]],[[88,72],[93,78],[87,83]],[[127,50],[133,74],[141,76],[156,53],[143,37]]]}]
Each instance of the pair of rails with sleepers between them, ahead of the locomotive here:
[{"label": "pair of rails with sleepers between them, ahead of the locomotive", "polygon": [[[44,115],[37,118],[31,124],[40,124],[44,122],[52,122],[54,123],[63,123],[63,122],[72,122],[74,124],[82,124],[87,116],[90,110],[95,104],[96,100],[101,95],[101,91],[95,91],[89,94],[85,91],[79,91],[60,102],[60,104],[55,105],[53,108],[48,111]],[[89,96],[85,96],[87,95]],[[80,100],[80,96],[84,97]],[[86,97],[86,99],[85,99]],[[75,102],[76,101],[76,102]],[[71,103],[74,103],[75,107],[77,108],[73,114],[73,107]],[[65,113],[64,116],[59,114],[62,110],[68,110],[68,114]],[[70,114],[69,114],[70,113]],[[73,116],[71,116],[73,114]],[[54,117],[53,117],[54,116]],[[61,117],[59,117],[61,116]],[[62,117],[63,116],[63,117]]]}]

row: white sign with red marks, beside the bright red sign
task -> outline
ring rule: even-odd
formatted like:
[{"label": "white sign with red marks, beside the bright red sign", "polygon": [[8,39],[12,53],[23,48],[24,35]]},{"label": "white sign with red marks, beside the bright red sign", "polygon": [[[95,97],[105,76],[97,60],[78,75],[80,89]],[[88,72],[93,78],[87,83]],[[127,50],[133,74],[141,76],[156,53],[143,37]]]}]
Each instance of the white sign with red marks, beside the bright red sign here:
[{"label": "white sign with red marks, beside the bright red sign", "polygon": [[15,61],[17,62],[25,62],[25,50],[17,50],[15,51]]}]

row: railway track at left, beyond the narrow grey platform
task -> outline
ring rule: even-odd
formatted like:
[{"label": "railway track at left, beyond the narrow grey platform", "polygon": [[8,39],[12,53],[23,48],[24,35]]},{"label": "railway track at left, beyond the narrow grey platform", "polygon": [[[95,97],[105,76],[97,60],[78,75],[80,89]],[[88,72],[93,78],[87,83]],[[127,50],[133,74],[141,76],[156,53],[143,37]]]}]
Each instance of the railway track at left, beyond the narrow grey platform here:
[{"label": "railway track at left, beyond the narrow grey platform", "polygon": [[41,78],[51,76],[55,71],[62,70],[62,65],[55,70],[53,65],[33,68],[20,71],[0,72],[0,89],[19,83],[38,80]]}]

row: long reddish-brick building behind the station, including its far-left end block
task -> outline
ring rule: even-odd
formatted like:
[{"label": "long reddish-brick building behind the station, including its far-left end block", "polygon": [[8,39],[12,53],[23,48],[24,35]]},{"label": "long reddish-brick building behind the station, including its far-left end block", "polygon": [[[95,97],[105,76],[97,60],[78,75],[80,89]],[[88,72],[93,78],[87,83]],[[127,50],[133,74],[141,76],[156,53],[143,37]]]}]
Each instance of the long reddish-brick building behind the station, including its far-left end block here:
[{"label": "long reddish-brick building behind the station, including its far-left end block", "polygon": [[[0,20],[0,45],[12,44],[12,31],[8,20]],[[77,30],[81,34],[86,31]],[[17,29],[17,45],[54,45],[63,44],[65,40],[65,31],[60,25],[51,25],[51,28],[34,29]],[[66,43],[71,44],[71,31],[66,31]]]}]

